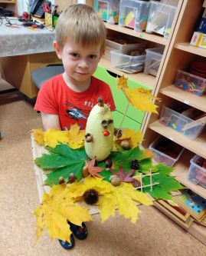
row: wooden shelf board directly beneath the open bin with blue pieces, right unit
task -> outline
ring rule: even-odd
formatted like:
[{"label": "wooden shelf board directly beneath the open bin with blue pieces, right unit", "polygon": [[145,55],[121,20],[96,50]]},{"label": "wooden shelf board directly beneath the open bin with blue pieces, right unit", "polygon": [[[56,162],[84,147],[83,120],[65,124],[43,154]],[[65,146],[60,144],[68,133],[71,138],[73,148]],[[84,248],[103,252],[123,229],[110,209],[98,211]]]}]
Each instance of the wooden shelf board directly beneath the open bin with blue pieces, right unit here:
[{"label": "wooden shelf board directly beneath the open bin with blue pieces, right unit", "polygon": [[195,140],[191,141],[186,138],[184,135],[178,133],[178,131],[173,130],[172,128],[162,125],[159,120],[153,122],[149,125],[149,128],[152,131],[158,132],[160,135],[165,136],[166,138],[175,141],[179,145],[187,148],[190,151],[193,151],[195,154],[200,155],[202,158],[206,158],[206,133],[203,131],[201,135]]}]

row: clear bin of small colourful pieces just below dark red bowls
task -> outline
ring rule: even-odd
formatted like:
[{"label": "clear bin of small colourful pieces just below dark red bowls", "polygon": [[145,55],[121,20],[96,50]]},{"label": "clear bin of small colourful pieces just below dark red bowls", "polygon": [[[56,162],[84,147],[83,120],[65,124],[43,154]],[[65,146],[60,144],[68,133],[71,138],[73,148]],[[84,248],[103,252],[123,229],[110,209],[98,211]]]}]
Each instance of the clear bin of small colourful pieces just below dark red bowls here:
[{"label": "clear bin of small colourful pieces just below dark red bowls", "polygon": [[206,91],[206,79],[178,70],[175,78],[175,86],[181,90],[201,96]]}]

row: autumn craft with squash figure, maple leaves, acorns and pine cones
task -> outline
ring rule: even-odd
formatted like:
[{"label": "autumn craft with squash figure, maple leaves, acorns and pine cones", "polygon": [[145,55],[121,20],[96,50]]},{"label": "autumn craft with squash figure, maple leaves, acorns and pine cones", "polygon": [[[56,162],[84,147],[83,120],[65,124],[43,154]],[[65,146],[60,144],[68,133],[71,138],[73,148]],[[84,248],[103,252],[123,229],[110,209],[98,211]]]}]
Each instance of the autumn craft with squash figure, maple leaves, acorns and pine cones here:
[{"label": "autumn craft with squash figure, maple leaves, acorns and pine cones", "polygon": [[[128,104],[156,112],[151,91],[128,88],[124,77],[118,78],[117,86]],[[183,188],[170,175],[173,168],[153,165],[151,151],[139,148],[140,131],[114,128],[110,108],[101,99],[90,111],[85,131],[73,125],[69,131],[32,132],[36,144],[49,151],[34,162],[47,176],[44,185],[51,186],[34,211],[37,239],[47,228],[51,238],[70,241],[68,220],[77,225],[90,221],[91,204],[99,208],[102,221],[114,216],[117,209],[135,223],[140,212],[137,203],[152,204],[148,194],[168,200],[171,191]]]}]

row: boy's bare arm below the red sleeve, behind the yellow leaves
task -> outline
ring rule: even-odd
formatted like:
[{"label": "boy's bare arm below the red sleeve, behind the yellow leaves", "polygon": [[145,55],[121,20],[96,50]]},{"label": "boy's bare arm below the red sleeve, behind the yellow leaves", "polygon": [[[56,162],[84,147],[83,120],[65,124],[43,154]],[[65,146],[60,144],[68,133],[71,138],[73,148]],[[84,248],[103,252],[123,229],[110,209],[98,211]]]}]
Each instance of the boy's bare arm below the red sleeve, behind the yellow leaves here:
[{"label": "boy's bare arm below the red sleeve, behind the yellow leaves", "polygon": [[51,114],[41,112],[41,119],[42,119],[42,123],[45,131],[47,131],[47,129],[49,128],[61,130],[58,115],[51,115]]}]

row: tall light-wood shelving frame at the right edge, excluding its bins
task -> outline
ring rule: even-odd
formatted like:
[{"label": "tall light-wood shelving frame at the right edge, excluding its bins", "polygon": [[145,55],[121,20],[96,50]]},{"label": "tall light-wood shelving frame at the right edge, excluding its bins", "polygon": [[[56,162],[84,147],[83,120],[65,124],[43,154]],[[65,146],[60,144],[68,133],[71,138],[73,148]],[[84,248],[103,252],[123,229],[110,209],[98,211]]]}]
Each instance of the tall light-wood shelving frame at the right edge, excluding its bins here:
[{"label": "tall light-wood shelving frame at the right edge, excluding its bins", "polygon": [[[190,105],[206,112],[205,95],[198,97],[197,95],[192,95],[186,91],[182,91],[179,88],[175,88],[173,85],[176,71],[178,69],[184,71],[188,68],[191,61],[197,59],[205,60],[206,58],[205,49],[189,44],[193,32],[195,31],[197,21],[199,18],[201,18],[201,14],[203,12],[202,4],[203,0],[184,0],[182,3],[171,44],[168,48],[168,53],[162,67],[161,74],[159,75],[158,84],[155,87],[154,95],[162,100],[161,102],[157,103],[159,105],[159,113],[161,113],[161,106],[167,101],[181,101],[186,105]],[[164,137],[175,141],[185,148],[185,153],[181,156],[181,158],[179,158],[175,165],[173,175],[175,175],[176,180],[180,181],[182,185],[185,185],[187,188],[190,188],[192,191],[206,199],[206,189],[199,185],[193,185],[190,181],[188,181],[187,178],[190,159],[195,154],[206,158],[205,131],[201,133],[198,138],[191,141],[172,128],[162,125],[159,122],[159,115],[147,115],[144,125],[144,128],[142,128],[145,138],[145,141],[143,141],[144,147],[148,147],[157,136],[163,135]],[[173,218],[172,215],[169,217],[175,221],[175,218]],[[190,234],[198,238],[201,242],[206,244],[206,227],[194,222],[191,224],[190,228],[185,229]]]}]

